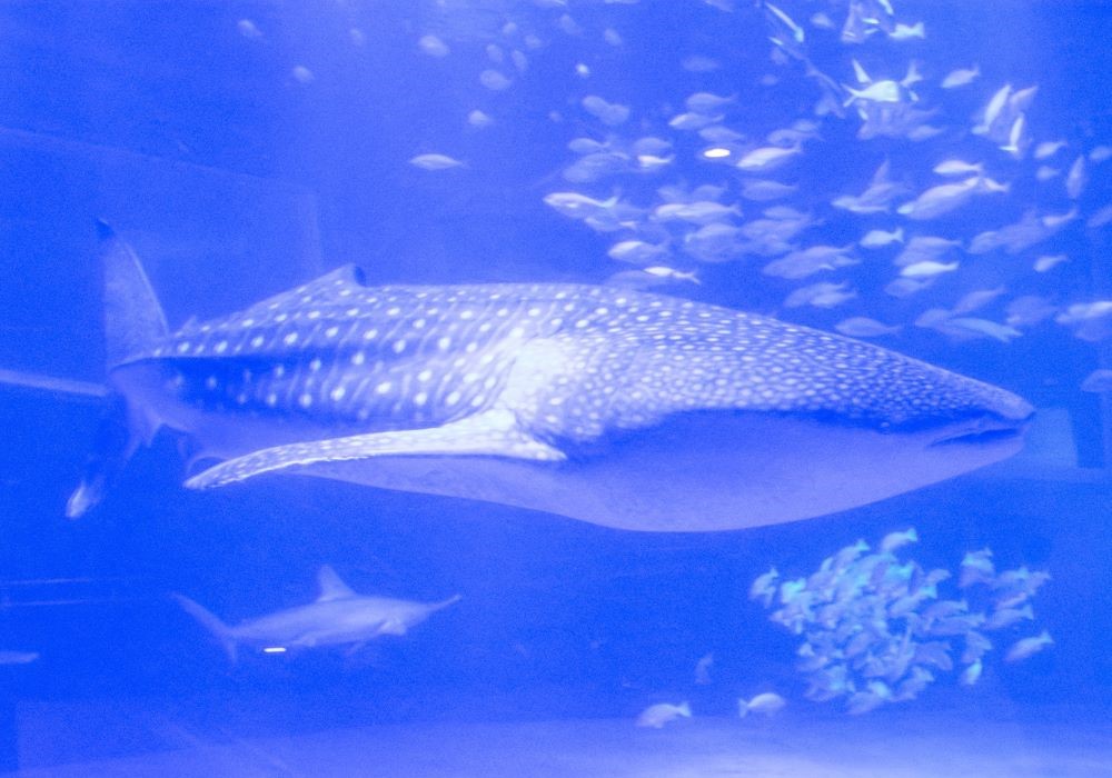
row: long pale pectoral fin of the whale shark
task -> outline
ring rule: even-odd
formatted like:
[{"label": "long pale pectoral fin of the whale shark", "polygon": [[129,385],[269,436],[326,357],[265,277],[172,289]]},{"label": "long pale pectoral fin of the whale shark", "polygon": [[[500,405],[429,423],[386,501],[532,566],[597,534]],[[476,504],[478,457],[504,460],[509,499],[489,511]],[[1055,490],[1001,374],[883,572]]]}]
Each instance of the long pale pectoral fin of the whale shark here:
[{"label": "long pale pectoral fin of the whale shark", "polygon": [[368,432],[266,448],[199,472],[186,486],[207,489],[319,462],[419,456],[488,456],[549,462],[566,458],[559,449],[522,430],[510,411],[489,410],[443,427]]}]

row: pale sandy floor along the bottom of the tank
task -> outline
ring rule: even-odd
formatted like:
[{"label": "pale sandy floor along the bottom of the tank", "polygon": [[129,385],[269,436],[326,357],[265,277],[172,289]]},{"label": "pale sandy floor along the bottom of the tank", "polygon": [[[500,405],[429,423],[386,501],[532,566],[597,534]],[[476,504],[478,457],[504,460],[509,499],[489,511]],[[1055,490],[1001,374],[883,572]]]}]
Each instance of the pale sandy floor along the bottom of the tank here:
[{"label": "pale sandy floor along the bottom of the tank", "polygon": [[1110,720],[1105,708],[971,707],[855,718],[786,710],[764,720],[684,719],[661,730],[638,729],[631,719],[437,722],[217,744],[167,722],[178,741],[169,750],[6,775],[1099,778],[1112,776]]}]

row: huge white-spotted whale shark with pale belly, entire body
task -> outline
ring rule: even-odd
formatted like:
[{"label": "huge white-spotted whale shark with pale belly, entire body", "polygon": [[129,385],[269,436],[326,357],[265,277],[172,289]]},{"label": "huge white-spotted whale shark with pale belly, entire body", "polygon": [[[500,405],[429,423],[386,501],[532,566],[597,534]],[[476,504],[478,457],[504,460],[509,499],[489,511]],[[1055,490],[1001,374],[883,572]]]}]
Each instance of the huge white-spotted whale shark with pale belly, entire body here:
[{"label": "huge white-spotted whale shark with pale belly, entire body", "polygon": [[339,479],[612,528],[847,510],[999,461],[1033,409],[872,343],[574,283],[370,286],[355,266],[170,331],[101,227],[109,412],[67,506],[159,429],[185,485]]}]

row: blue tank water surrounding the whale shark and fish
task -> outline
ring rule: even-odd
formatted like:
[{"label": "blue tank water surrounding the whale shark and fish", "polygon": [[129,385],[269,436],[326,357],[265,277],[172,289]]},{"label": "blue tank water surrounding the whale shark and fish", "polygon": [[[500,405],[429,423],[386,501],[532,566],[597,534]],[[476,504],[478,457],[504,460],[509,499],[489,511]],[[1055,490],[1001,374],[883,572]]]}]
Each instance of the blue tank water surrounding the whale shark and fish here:
[{"label": "blue tank water surrounding the whale shark and fish", "polygon": [[[353,729],[408,754],[429,740],[427,728],[449,725],[619,720],[628,732],[603,738],[615,748],[615,740],[636,744],[645,734],[633,721],[647,706],[688,700],[695,717],[671,722],[663,730],[672,738],[667,747],[657,742],[646,751],[682,752],[695,742],[685,742],[683,727],[693,727],[694,738],[701,719],[752,739],[752,720],[736,719],[737,698],[776,691],[786,710],[756,730],[770,741],[788,737],[777,734],[777,721],[787,722],[787,732],[815,717],[834,738],[844,726],[853,737],[886,744],[885,756],[898,756],[893,722],[914,728],[922,716],[943,732],[943,745],[952,736],[959,748],[973,724],[1004,720],[1022,726],[1010,730],[1000,764],[1024,751],[1042,760],[1040,775],[1112,772],[1112,752],[1102,750],[1112,720],[1112,406],[1106,395],[1081,390],[1092,371],[1112,367],[1105,339],[1112,329],[1106,315],[1092,313],[1088,329],[1063,316],[1070,306],[1112,299],[1110,228],[1085,223],[1112,203],[1112,161],[1099,152],[1089,158],[1088,184],[1075,197],[1063,186],[1079,156],[1112,144],[1103,78],[1112,66],[1112,13],[1082,2],[893,0],[893,21],[923,21],[925,39],[894,41],[876,30],[854,44],[840,36],[850,4],[774,3],[805,32],[804,43],[780,49],[770,36],[791,28],[776,27],[768,9],[743,0],[0,9],[6,377],[103,381],[95,231],[95,220],[103,219],[142,258],[172,326],[239,310],[346,262],[360,265],[373,285],[605,283],[635,270],[607,257],[614,243],[666,238],[669,256],[661,265],[695,272],[701,282],[666,282],[655,291],[832,331],[850,317],[898,325],[897,333],[876,342],[1004,387],[1039,409],[1027,450],[986,471],[844,513],[739,531],[618,531],[505,506],[302,478],[190,492],[180,486],[183,466],[170,436],[135,457],[102,506],[68,521],[66,500],[92,448],[102,403],[6,383],[0,651],[38,657],[0,665],[0,770],[49,775],[69,766],[109,775],[103,760],[123,759],[131,760],[129,775],[159,775],[156,762],[145,760],[180,752],[175,769],[186,775],[200,769],[190,749],[299,744]],[[835,29],[808,21],[818,12]],[[423,50],[418,41],[426,36],[449,52]],[[781,51],[780,63],[773,51]],[[696,56],[714,69],[685,68]],[[844,117],[816,116],[822,91],[804,58],[851,86],[852,59],[875,80],[902,79],[917,61],[924,80],[903,88],[900,104],[932,111],[923,123],[939,134],[862,140],[856,106]],[[974,63],[980,77],[972,83],[940,88],[949,72]],[[488,69],[505,74],[508,87],[484,87],[480,73]],[[1014,156],[970,131],[1004,84],[1039,88],[1022,111],[1023,150]],[[702,158],[715,143],[668,126],[685,110],[685,98],[699,91],[733,97],[716,122],[746,137],[726,144],[731,162],[797,120],[815,122],[815,137],[784,167],[745,177]],[[629,118],[607,127],[584,109],[587,96],[627,107]],[[474,110],[489,116],[489,126],[469,124]],[[646,171],[628,144],[649,136],[672,149],[662,154],[669,161]],[[626,154],[624,169],[569,181],[565,173],[579,156],[567,143],[575,138],[608,142]],[[1054,140],[1066,146],[1034,159],[1039,143]],[[410,162],[426,153],[464,164],[425,170]],[[927,221],[898,215],[900,205],[947,181],[931,169],[952,158],[983,162],[1009,191],[977,194]],[[884,160],[906,188],[890,212],[832,207],[838,196],[864,190]],[[1039,181],[1042,164],[1059,173]],[[739,197],[746,178],[797,191],[751,202]],[[847,246],[868,230],[897,227],[909,238],[941,236],[967,249],[974,236],[1032,209],[1040,218],[1071,218],[1014,255],[952,251],[940,261],[956,261],[956,269],[900,298],[885,292],[900,272],[892,262],[900,246],[853,247],[860,263],[802,280],[762,273],[774,256],[738,251],[727,261],[699,261],[683,249],[698,225],[661,223],[651,215],[664,202],[659,188],[701,184],[726,187],[718,200],[743,212],[726,220],[734,226],[775,206],[806,215],[808,226],[794,239],[801,249]],[[638,216],[620,230],[599,232],[546,205],[554,192],[599,201],[616,196]],[[1068,261],[1033,269],[1036,258],[1060,253]],[[793,290],[818,281],[848,282],[856,296],[830,309],[784,305]],[[952,310],[969,292],[997,288],[983,307],[951,318],[1012,327],[1002,338],[915,323],[924,311]],[[1037,298],[1051,312],[1009,323],[1010,305],[1022,297]],[[993,636],[996,647],[972,687],[957,682],[961,667],[940,671],[916,699],[860,718],[843,712],[844,698],[808,700],[795,667],[801,638],[768,619],[749,599],[749,585],[771,566],[785,578],[807,576],[858,538],[875,545],[911,526],[920,540],[900,556],[924,569],[956,575],[966,552],[989,547],[997,570],[1048,571],[1051,580],[1030,600],[1034,618]],[[326,563],[361,594],[433,601],[458,592],[464,599],[404,637],[387,636],[350,655],[247,651],[230,666],[168,597],[186,594],[237,622],[311,601]],[[946,597],[962,596],[954,581],[946,587]],[[1023,661],[1002,660],[1009,645],[1043,629],[1053,646]],[[714,657],[711,682],[696,685],[695,665],[707,654]],[[1069,738],[1049,738],[1040,727],[1076,732],[1095,756],[1071,761],[1055,750]],[[560,740],[572,738],[564,730],[557,735],[532,751],[528,742],[517,744],[525,762],[494,759],[485,774],[548,775],[514,765],[570,742]],[[827,748],[834,751],[814,742],[806,748],[815,764]],[[319,771],[276,767],[259,749],[245,751],[257,761],[228,762],[222,775],[478,770],[464,756],[454,761],[451,749],[440,755],[439,771],[425,772],[407,769],[404,759],[375,771],[348,740],[336,746],[351,755],[344,766]],[[856,766],[880,758],[872,754]],[[603,755],[597,770],[592,764],[567,775],[654,775],[652,760],[641,772],[622,772]],[[914,766],[909,769],[913,775]],[[932,769],[924,766],[921,775],[936,775]]]}]

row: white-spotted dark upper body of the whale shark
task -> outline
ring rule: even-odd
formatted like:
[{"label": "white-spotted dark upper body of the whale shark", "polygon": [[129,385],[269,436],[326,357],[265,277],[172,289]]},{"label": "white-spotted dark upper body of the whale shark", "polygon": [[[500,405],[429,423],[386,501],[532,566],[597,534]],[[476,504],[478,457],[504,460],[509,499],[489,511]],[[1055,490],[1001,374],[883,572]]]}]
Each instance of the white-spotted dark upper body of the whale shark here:
[{"label": "white-spotted dark upper body of the whale shark", "polygon": [[818,413],[882,428],[1025,413],[1003,390],[871,343],[573,285],[366,288],[340,270],[187,327],[152,355],[181,372],[191,401],[371,428],[405,427],[417,409],[428,426],[498,406],[537,436],[580,441],[684,410]]}]

